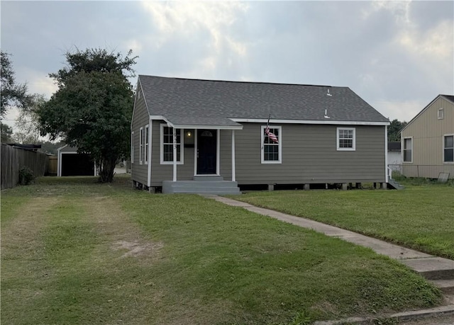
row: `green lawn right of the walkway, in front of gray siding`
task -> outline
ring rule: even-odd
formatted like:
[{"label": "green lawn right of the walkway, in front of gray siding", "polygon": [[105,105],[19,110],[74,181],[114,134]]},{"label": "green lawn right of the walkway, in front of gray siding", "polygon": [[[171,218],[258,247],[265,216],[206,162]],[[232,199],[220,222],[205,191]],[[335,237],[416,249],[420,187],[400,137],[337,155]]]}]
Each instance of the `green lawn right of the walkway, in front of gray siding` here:
[{"label": "green lawn right of the walkway, in front of gray siding", "polygon": [[405,190],[262,191],[233,198],[454,258],[454,186],[411,180],[404,185]]}]

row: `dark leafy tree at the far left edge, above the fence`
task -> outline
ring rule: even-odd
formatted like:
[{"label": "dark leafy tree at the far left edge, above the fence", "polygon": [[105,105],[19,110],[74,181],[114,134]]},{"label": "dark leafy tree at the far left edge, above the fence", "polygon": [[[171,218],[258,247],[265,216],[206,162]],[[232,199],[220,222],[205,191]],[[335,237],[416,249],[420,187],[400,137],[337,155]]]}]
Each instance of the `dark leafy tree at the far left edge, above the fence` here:
[{"label": "dark leafy tree at the far left edge, above the fence", "polygon": [[13,106],[19,109],[26,108],[31,98],[27,95],[27,85],[16,83],[13,63],[9,54],[0,50],[0,59],[0,118],[4,118],[9,108]]}]

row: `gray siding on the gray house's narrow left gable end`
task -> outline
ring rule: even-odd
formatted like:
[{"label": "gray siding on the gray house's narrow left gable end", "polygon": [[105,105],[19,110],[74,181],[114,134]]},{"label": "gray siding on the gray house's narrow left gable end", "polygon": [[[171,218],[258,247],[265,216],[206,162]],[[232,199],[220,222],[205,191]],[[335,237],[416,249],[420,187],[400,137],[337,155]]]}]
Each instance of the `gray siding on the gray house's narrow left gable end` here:
[{"label": "gray siding on the gray house's narrow left gable end", "polygon": [[[140,96],[139,96],[140,94]],[[143,100],[143,93],[138,86],[138,91],[135,93],[135,106],[133,111],[133,121],[131,124],[131,131],[134,132],[134,162],[131,163],[131,179],[139,183],[148,184],[148,164],[140,164],[139,150],[140,150],[140,127],[143,127],[143,150],[145,151],[145,125],[149,122],[149,115],[145,101]],[[145,160],[144,160],[145,161]]]}]

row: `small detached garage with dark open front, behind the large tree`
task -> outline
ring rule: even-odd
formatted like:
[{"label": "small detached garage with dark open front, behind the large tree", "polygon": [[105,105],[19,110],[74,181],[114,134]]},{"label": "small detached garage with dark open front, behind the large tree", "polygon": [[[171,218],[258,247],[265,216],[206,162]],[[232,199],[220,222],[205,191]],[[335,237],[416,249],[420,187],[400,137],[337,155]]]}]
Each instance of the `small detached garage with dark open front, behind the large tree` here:
[{"label": "small detached garage with dark open front, behind the large tree", "polygon": [[58,148],[57,176],[96,176],[90,154],[78,154],[77,148],[65,145]]}]

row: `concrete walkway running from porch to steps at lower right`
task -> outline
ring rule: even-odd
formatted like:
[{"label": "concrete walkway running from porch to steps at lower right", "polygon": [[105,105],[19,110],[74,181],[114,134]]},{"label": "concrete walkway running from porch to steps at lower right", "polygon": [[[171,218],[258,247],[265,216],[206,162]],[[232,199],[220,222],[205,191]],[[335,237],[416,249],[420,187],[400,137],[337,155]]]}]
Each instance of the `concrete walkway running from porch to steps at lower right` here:
[{"label": "concrete walkway running from porch to steps at lower right", "polygon": [[[326,234],[326,236],[338,237],[345,241],[350,241],[350,243],[353,244],[369,247],[379,254],[394,258],[423,275],[424,278],[430,280],[434,285],[438,286],[443,291],[447,305],[442,308],[437,307],[433,309],[433,312],[452,314],[454,317],[454,261],[448,258],[441,258],[429,255],[427,253],[421,253],[420,251],[414,251],[413,249],[406,249],[402,246],[390,244],[387,241],[375,239],[369,236],[358,234],[356,232],[350,232],[348,230],[333,227],[328,224],[322,224],[321,222],[316,222],[314,220],[304,219],[303,217],[286,215],[285,213],[277,212],[275,210],[255,207],[254,205],[250,205],[249,203],[232,200],[230,198],[223,198],[218,195],[203,196],[205,198],[214,199],[226,205],[243,207],[246,210],[256,212],[260,215],[266,215],[268,217],[279,219],[283,222],[295,224],[299,227],[313,229],[316,232]],[[428,314],[431,314],[431,312],[429,312]]]}]

